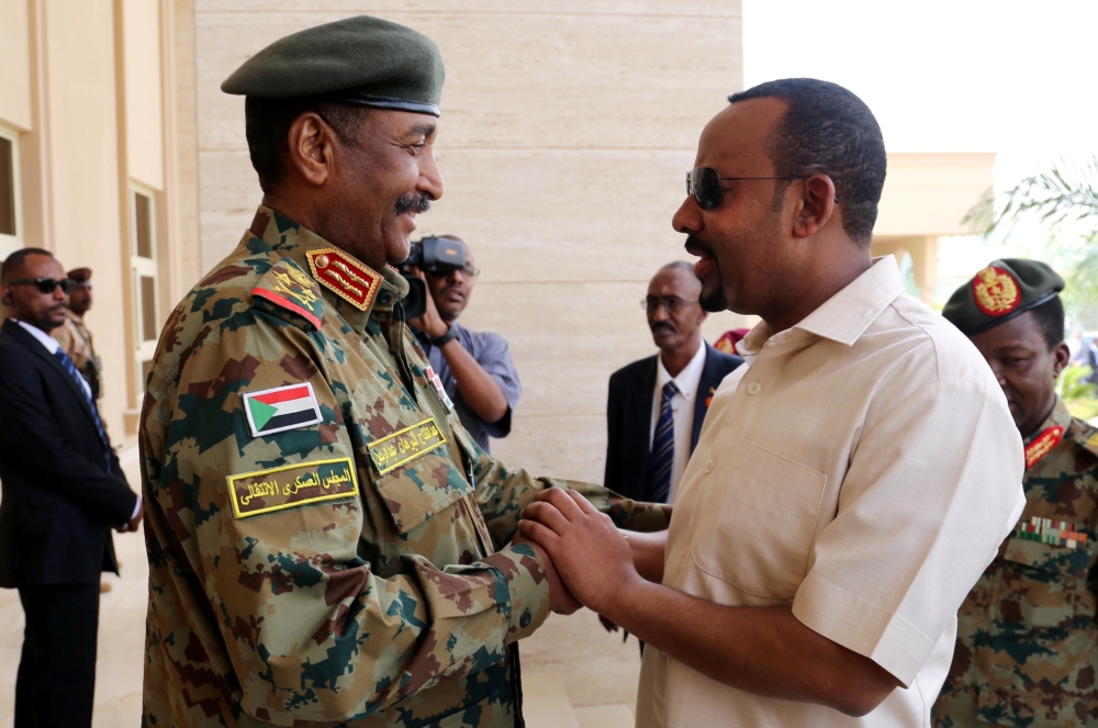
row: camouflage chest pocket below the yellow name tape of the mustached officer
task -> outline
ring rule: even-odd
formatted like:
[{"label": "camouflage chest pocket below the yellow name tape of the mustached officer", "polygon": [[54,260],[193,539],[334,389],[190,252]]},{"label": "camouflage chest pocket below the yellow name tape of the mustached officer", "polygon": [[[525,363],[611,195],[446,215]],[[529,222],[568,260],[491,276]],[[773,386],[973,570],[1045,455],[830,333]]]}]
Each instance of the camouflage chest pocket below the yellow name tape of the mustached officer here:
[{"label": "camouflage chest pocket below the yellow name tape of the mustached officer", "polygon": [[401,534],[408,534],[471,493],[469,483],[447,457],[449,447],[419,456],[373,481]]}]

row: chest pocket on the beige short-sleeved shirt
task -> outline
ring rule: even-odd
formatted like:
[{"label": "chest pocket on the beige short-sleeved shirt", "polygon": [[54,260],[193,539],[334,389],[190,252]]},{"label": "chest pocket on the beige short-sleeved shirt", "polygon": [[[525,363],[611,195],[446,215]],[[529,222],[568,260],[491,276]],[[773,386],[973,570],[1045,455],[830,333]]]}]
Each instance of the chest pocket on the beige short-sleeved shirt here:
[{"label": "chest pocket on the beige short-sleeved shirt", "polygon": [[708,483],[694,563],[748,594],[793,598],[808,573],[827,475],[743,439],[720,459],[712,471],[731,477]]}]

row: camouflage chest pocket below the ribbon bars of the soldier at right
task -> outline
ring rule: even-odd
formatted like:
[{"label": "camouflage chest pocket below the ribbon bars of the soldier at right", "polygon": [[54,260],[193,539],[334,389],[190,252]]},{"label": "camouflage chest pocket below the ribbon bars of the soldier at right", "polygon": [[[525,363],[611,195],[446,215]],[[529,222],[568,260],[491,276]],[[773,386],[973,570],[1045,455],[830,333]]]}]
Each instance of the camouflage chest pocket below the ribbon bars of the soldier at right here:
[{"label": "camouflage chest pocket below the ribbon bars of the soldier at right", "polygon": [[[1089,535],[1089,534],[1088,534]],[[1088,539],[1089,540],[1089,539]],[[1078,627],[1091,547],[1067,548],[1012,536],[1002,552],[1004,574],[998,612],[1004,621],[1030,627]]]}]

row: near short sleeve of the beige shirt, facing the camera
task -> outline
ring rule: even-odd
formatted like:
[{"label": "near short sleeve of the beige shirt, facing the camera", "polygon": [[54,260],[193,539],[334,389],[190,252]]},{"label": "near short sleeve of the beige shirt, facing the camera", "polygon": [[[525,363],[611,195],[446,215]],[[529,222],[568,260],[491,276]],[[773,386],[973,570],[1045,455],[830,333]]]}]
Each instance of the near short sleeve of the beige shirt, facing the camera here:
[{"label": "near short sleeve of the beige shirt, facing the camera", "polygon": [[875,417],[793,614],[910,686],[1026,504],[1001,392],[939,380]]}]

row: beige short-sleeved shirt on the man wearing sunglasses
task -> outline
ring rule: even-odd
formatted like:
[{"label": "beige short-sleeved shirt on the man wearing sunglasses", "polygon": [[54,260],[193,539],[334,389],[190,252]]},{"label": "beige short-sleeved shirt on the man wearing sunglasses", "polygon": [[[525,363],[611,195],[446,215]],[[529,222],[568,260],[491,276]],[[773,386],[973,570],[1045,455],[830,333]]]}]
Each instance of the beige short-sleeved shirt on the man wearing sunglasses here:
[{"label": "beige short-sleeved shirt on the man wearing sunglasses", "polygon": [[890,257],[807,318],[740,343],[680,484],[663,583],[792,604],[896,676],[863,718],[721,685],[645,652],[637,725],[929,725],[961,602],[1024,506],[1022,444],[976,348]]}]

